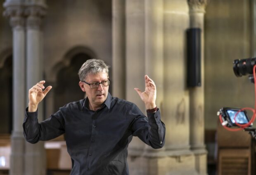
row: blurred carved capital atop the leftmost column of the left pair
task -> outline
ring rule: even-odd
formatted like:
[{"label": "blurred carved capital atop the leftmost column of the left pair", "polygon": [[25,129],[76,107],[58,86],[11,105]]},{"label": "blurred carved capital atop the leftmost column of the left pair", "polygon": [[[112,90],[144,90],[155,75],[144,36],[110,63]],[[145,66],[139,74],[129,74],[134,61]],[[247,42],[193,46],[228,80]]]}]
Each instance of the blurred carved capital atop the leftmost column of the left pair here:
[{"label": "blurred carved capital atop the leftmost column of the left pair", "polygon": [[24,28],[25,10],[23,6],[7,7],[3,15],[10,18],[12,28]]}]

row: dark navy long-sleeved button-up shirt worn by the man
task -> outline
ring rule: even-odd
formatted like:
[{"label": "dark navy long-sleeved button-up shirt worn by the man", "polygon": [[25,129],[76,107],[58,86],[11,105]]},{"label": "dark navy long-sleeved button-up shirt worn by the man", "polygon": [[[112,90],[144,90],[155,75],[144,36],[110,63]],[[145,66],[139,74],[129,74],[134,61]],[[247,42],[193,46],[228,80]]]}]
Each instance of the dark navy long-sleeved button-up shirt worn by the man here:
[{"label": "dark navy long-sleeved button-up shirt worn by the man", "polygon": [[66,104],[38,123],[38,112],[26,109],[24,136],[30,143],[66,134],[73,160],[71,175],[128,175],[127,147],[133,136],[161,148],[165,126],[159,109],[147,117],[133,103],[108,94],[102,108],[92,111],[88,98]]}]

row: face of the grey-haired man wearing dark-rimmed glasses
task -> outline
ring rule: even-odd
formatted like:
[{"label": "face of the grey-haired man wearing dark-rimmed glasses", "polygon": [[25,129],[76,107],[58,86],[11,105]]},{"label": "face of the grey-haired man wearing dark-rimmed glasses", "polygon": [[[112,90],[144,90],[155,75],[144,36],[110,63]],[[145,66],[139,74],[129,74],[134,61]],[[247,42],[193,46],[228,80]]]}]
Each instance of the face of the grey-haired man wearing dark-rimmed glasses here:
[{"label": "face of the grey-haired man wearing dark-rimmed glasses", "polygon": [[[84,81],[87,83],[101,83],[108,80],[108,74],[106,72],[100,72],[97,74],[89,74]],[[90,85],[80,81],[81,89],[86,92],[89,99],[89,103],[92,106],[100,106],[106,99],[109,91],[109,86],[99,85],[98,88],[90,88]]]}]

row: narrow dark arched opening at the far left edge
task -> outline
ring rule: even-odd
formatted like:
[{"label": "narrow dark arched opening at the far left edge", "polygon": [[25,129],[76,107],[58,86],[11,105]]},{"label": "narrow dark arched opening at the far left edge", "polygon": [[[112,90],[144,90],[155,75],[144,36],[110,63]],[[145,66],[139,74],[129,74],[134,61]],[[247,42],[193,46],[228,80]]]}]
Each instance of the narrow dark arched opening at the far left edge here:
[{"label": "narrow dark arched opening at the far left edge", "polygon": [[0,67],[0,134],[12,132],[12,55],[9,55]]}]

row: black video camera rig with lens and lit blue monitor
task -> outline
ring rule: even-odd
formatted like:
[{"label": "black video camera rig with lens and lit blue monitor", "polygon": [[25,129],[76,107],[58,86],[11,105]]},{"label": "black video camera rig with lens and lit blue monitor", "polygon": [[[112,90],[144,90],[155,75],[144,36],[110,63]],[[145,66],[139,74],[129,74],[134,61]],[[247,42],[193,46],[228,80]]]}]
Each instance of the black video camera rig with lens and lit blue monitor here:
[{"label": "black video camera rig with lens and lit blue monitor", "polygon": [[[254,83],[254,66],[256,65],[256,58],[248,58],[241,60],[234,60],[233,71],[235,76],[241,77],[249,74],[249,80]],[[249,134],[256,139],[256,129],[252,128],[252,122],[247,116],[247,112],[243,109],[251,108],[221,108],[217,115],[220,117],[220,122],[226,129],[230,131],[249,131]],[[253,117],[256,116],[255,109],[251,109],[254,112]],[[253,119],[254,120],[254,119]],[[235,128],[235,129],[234,129]]]}]

